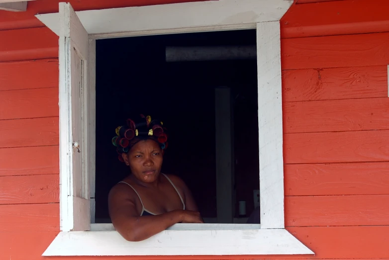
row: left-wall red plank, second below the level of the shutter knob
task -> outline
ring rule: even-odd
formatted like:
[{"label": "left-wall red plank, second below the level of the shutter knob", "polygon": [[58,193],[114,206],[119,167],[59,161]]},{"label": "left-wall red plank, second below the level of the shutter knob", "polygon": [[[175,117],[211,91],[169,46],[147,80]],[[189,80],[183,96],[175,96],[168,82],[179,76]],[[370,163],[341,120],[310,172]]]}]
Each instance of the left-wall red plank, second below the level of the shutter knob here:
[{"label": "left-wall red plank, second below the level of the shutter knob", "polygon": [[0,177],[0,204],[59,202],[59,175]]}]

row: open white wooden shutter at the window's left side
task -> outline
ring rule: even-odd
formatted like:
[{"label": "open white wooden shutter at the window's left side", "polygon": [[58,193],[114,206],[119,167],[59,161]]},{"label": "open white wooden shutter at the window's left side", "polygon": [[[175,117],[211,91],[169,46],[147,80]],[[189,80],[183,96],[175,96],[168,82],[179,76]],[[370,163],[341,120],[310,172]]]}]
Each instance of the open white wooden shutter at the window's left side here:
[{"label": "open white wooden shutter at the window's left side", "polygon": [[69,3],[60,12],[60,215],[62,231],[90,230],[88,33]]}]

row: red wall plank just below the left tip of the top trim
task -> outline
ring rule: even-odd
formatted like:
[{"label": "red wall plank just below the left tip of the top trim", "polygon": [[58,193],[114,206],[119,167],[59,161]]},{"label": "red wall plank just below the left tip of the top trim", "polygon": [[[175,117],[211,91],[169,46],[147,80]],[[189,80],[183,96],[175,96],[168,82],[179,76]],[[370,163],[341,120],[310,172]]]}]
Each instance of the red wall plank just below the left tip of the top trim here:
[{"label": "red wall plank just below the left tip of the top trim", "polygon": [[58,36],[47,27],[0,31],[0,62],[58,57]]}]

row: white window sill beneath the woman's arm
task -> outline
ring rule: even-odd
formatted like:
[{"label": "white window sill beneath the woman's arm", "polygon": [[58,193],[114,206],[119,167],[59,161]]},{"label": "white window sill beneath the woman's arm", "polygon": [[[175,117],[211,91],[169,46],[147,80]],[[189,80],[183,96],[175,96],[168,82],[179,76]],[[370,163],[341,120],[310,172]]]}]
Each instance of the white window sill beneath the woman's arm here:
[{"label": "white window sill beneath the woman's arm", "polygon": [[229,226],[228,224],[222,224],[220,227],[214,226],[213,229],[206,227],[206,230],[199,230],[195,226],[196,224],[176,224],[170,229],[141,242],[128,242],[124,240],[119,233],[114,230],[109,230],[111,229],[109,225],[106,224],[106,231],[60,232],[42,256],[237,256],[314,254],[287,230],[256,229],[254,227],[257,226],[258,228],[259,225],[247,225],[247,227],[251,226],[250,229],[243,229],[243,226],[241,226],[242,229],[231,229],[232,226],[228,229],[226,228]]}]

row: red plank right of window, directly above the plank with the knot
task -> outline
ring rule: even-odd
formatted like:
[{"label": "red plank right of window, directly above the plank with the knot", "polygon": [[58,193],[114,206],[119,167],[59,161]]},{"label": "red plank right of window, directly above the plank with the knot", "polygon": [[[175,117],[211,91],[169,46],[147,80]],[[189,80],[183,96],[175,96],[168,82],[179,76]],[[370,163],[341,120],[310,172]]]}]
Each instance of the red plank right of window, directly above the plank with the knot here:
[{"label": "red plank right of window, directly above the plank with the knot", "polygon": [[282,68],[388,65],[388,48],[389,33],[283,39]]}]

